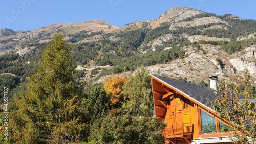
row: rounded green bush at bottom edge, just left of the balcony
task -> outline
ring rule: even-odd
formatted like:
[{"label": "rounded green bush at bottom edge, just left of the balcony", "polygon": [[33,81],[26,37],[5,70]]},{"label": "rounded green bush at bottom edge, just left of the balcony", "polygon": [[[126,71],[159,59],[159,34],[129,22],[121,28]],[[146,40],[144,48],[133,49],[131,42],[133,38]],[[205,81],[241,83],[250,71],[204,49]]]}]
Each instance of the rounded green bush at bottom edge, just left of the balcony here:
[{"label": "rounded green bush at bottom edge, just left of the balcony", "polygon": [[155,117],[108,115],[92,126],[89,139],[94,143],[164,143],[165,126]]}]

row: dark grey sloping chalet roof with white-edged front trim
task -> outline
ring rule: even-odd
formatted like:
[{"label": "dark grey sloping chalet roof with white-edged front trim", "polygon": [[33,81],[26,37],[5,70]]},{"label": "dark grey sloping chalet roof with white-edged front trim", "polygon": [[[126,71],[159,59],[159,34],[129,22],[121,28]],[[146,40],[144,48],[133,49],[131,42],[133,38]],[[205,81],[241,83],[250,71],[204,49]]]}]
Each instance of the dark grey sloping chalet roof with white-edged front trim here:
[{"label": "dark grey sloping chalet roof with white-edged front trim", "polygon": [[207,102],[207,99],[209,101],[216,99],[214,90],[212,90],[211,88],[154,74],[151,74],[151,76],[152,78],[160,81],[162,84],[172,89],[175,89],[175,91],[181,93],[182,95],[185,95],[189,100],[193,101],[194,103],[203,105],[205,108],[211,110],[212,112],[214,111]]}]

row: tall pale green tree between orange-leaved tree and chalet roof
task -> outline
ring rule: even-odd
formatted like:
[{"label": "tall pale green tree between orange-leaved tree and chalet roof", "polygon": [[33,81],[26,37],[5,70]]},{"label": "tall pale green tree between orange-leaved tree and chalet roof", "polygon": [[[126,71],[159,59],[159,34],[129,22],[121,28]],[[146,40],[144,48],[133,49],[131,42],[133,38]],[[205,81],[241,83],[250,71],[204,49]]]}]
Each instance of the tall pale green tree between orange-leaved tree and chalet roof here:
[{"label": "tall pale green tree between orange-leaved tree and chalet roof", "polygon": [[123,86],[123,111],[134,116],[151,116],[154,110],[148,70],[138,68]]}]

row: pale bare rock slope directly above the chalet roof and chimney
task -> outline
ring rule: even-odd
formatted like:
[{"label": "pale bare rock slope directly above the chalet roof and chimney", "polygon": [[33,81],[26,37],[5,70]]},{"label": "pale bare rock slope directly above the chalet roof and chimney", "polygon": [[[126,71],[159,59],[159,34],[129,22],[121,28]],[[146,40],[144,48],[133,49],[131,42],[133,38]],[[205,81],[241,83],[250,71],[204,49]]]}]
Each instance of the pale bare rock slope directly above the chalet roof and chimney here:
[{"label": "pale bare rock slope directly above the chalet roof and chimney", "polygon": [[[256,77],[256,45],[247,47],[241,52],[228,55],[218,46],[204,44],[202,50],[195,47],[183,47],[187,57],[177,59],[168,64],[156,64],[146,67],[151,74],[165,75],[173,78],[187,77],[188,81],[207,79],[208,76],[220,72],[224,75],[236,76],[248,69],[252,77]],[[228,77],[226,80],[230,80]]]}]

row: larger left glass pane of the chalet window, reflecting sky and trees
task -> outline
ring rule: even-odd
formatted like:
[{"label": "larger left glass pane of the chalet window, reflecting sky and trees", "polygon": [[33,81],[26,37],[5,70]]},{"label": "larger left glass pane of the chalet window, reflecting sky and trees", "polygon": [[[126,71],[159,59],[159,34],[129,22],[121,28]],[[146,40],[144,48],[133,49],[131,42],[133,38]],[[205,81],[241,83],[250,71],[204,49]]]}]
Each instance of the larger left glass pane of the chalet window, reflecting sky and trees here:
[{"label": "larger left glass pane of the chalet window, reflecting sky and trees", "polygon": [[202,134],[216,133],[215,118],[201,110]]}]

